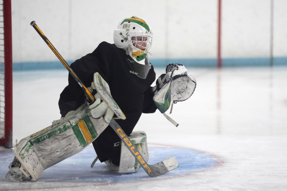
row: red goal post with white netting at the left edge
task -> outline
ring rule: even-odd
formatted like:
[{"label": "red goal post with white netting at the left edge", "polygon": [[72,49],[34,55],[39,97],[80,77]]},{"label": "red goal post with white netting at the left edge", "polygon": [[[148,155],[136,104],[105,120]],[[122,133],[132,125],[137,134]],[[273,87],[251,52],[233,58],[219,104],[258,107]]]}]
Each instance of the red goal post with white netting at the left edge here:
[{"label": "red goal post with white netting at the left edge", "polygon": [[12,148],[11,0],[0,0],[0,146]]}]

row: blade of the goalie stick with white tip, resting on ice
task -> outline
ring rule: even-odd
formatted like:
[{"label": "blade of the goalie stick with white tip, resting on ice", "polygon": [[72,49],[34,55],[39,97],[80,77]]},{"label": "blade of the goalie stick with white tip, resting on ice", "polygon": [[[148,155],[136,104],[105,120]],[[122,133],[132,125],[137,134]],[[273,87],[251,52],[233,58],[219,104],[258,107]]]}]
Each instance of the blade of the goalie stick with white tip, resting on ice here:
[{"label": "blade of the goalie stick with white tip, resting on ice", "polygon": [[156,177],[162,175],[166,172],[169,172],[178,167],[178,162],[175,160],[174,157],[167,158],[157,164],[149,165],[152,173],[149,175],[151,177]]}]

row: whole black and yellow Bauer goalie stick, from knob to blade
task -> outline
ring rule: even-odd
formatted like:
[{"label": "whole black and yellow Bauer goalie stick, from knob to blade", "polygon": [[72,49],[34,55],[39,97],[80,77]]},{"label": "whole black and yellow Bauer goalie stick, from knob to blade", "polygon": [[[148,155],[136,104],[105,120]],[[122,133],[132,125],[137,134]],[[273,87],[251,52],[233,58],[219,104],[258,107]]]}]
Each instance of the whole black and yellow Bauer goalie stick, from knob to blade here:
[{"label": "whole black and yellow Bauer goalie stick, from knob to blade", "polygon": [[[48,40],[48,38],[44,35],[44,33],[39,29],[39,27],[36,25],[35,21],[32,21],[30,25],[37,31],[37,33],[42,37],[42,39],[45,41],[45,43],[50,47],[50,49],[54,52],[54,54],[59,58],[59,60],[62,62],[62,64],[65,66],[65,68],[69,71],[71,76],[78,82],[78,84],[81,86],[81,88],[85,92],[85,96],[88,99],[90,103],[94,103],[96,100],[95,97],[91,94],[91,92],[85,87],[83,82],[78,78],[78,76],[74,73],[74,71],[71,69],[71,67],[67,64],[65,59],[59,54],[59,52],[56,50],[56,48],[53,46],[53,44]],[[178,167],[178,162],[175,160],[174,157],[170,157],[165,159],[164,161],[161,161],[157,164],[149,165],[146,163],[144,158],[142,157],[139,150],[135,147],[134,144],[132,144],[131,140],[128,136],[126,136],[126,133],[123,131],[123,129],[120,127],[120,125],[112,119],[109,125],[112,127],[112,129],[117,133],[117,135],[120,137],[121,141],[126,145],[126,147],[129,149],[129,151],[132,153],[132,155],[135,157],[135,159],[139,162],[141,167],[146,171],[146,173],[151,176],[155,177],[161,174],[164,174],[166,172],[169,172],[175,168]]]}]

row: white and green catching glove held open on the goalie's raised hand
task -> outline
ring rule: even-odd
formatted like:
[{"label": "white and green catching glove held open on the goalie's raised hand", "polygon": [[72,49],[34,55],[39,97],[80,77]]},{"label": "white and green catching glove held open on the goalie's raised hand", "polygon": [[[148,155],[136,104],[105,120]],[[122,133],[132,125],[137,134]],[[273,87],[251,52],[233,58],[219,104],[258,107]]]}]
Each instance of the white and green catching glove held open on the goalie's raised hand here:
[{"label": "white and green catching glove held open on the goalie's raised hand", "polygon": [[153,101],[161,113],[165,113],[171,103],[185,101],[193,94],[196,80],[190,76],[182,64],[168,64],[166,74],[162,74],[152,88]]}]

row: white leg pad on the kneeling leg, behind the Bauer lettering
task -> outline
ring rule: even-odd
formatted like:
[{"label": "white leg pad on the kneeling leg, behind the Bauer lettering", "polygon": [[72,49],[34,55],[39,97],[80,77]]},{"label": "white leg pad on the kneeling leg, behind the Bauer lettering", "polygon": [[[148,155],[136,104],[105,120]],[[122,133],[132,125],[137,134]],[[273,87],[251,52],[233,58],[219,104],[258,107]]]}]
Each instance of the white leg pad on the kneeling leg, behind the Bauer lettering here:
[{"label": "white leg pad on the kneeling leg, behind the Bauer lettering", "polygon": [[[129,136],[132,144],[139,150],[144,160],[147,162],[149,159],[149,152],[146,143],[146,133],[144,131],[134,131]],[[131,144],[130,142],[128,144]],[[112,164],[110,160],[105,161],[108,165],[107,169],[118,173],[130,173],[138,171],[141,165],[129,151],[125,144],[121,144],[120,151],[120,166]]]}]

